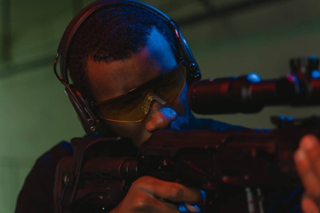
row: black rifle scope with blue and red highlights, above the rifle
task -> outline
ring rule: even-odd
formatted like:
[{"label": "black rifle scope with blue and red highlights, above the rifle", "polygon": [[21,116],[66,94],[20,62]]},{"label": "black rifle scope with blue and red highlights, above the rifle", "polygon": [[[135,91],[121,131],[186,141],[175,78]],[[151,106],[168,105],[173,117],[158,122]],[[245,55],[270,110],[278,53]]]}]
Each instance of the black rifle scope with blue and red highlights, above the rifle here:
[{"label": "black rifle scope with blue and red highlights, above the rifle", "polygon": [[188,89],[190,109],[198,114],[255,113],[264,106],[320,104],[319,59],[292,58],[291,73],[262,80],[256,73],[212,78],[193,83]]}]

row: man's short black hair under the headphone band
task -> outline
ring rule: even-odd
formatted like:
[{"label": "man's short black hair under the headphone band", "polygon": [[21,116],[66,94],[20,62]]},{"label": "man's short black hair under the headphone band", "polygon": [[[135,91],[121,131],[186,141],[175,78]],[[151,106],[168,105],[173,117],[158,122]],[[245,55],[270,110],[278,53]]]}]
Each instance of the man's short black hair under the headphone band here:
[{"label": "man's short black hair under the headphone band", "polygon": [[152,27],[164,35],[176,56],[176,39],[168,23],[155,13],[137,6],[113,5],[95,11],[77,30],[68,56],[72,82],[84,98],[94,101],[87,59],[106,63],[129,58],[146,45]]}]

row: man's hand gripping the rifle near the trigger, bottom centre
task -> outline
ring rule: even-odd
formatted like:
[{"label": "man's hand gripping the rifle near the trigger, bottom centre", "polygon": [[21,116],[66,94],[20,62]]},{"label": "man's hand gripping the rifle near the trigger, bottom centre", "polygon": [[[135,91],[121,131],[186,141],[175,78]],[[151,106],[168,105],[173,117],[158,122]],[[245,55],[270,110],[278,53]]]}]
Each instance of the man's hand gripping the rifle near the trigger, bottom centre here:
[{"label": "man's hand gripping the rifle near the trigger, bottom centre", "polygon": [[133,182],[124,200],[111,212],[179,212],[178,206],[172,203],[185,202],[190,212],[198,212],[190,204],[202,202],[200,190],[183,186],[179,183],[166,182],[153,177],[144,176]]}]

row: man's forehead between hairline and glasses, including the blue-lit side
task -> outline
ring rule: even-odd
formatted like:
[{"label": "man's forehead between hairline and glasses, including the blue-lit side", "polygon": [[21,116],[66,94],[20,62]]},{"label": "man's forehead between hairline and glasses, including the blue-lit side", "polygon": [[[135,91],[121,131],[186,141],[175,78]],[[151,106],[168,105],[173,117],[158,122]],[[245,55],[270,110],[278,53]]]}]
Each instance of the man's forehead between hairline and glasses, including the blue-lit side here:
[{"label": "man's forehead between hairline and glasses, including the blue-lit side", "polygon": [[133,89],[172,69],[177,62],[170,44],[156,27],[146,45],[131,57],[110,63],[88,58],[89,82],[96,101],[105,101]]}]

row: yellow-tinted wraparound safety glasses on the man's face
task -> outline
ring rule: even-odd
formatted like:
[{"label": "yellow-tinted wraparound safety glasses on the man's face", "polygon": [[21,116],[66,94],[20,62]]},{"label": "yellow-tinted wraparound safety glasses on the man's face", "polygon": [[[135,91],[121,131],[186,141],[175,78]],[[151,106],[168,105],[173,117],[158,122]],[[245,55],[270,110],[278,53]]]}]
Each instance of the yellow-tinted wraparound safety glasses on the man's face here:
[{"label": "yellow-tinted wraparound safety glasses on the man's face", "polygon": [[156,100],[171,106],[186,83],[186,67],[181,61],[172,70],[118,97],[93,103],[101,118],[118,122],[139,122],[146,118],[150,104]]}]

